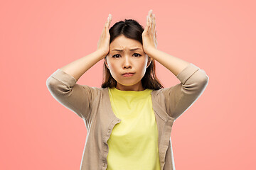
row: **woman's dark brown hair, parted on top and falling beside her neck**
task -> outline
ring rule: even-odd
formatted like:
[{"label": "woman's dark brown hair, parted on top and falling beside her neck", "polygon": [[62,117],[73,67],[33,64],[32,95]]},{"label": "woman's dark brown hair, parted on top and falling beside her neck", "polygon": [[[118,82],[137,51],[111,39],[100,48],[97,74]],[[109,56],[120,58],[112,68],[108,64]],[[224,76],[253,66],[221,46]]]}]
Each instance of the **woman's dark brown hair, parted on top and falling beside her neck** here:
[{"label": "woman's dark brown hair, parted on top and falling beside her neck", "polygon": [[[142,43],[142,33],[144,31],[144,28],[135,20],[124,19],[124,21],[114,23],[114,26],[112,26],[109,31],[110,43],[114,40],[114,38],[117,38],[119,35],[124,35],[126,38],[138,40]],[[117,81],[110,74],[110,70],[107,68],[105,62],[103,64],[103,69],[104,79],[102,81],[102,88],[116,87]],[[142,86],[144,87],[144,89],[159,90],[161,88],[164,88],[164,86],[161,85],[159,79],[157,79],[155,72],[155,60],[152,58],[149,67],[146,68],[144,77],[142,77]]]}]

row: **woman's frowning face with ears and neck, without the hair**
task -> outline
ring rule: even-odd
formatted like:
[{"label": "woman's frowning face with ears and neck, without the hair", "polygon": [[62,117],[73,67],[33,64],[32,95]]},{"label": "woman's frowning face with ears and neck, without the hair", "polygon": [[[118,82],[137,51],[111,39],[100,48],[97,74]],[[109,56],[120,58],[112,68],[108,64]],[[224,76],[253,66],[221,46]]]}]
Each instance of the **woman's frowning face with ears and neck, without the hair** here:
[{"label": "woman's frowning face with ears and neck, without the hair", "polygon": [[[137,48],[137,50],[132,50]],[[122,51],[121,51],[122,50]],[[105,64],[117,81],[116,88],[123,91],[142,91],[142,77],[151,58],[144,53],[142,44],[120,35],[110,43],[110,52]],[[131,72],[131,75],[124,75]]]}]

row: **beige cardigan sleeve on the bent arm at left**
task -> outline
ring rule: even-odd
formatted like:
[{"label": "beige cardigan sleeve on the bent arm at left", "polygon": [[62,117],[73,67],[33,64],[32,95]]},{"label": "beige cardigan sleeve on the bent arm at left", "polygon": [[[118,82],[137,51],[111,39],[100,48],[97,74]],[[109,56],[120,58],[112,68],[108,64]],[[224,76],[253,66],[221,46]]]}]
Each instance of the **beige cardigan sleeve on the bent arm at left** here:
[{"label": "beige cardigan sleeve on the bent arm at left", "polygon": [[76,83],[76,79],[62,69],[57,69],[46,80],[50,94],[63,106],[89,120],[91,103],[94,96],[100,93],[98,88]]}]

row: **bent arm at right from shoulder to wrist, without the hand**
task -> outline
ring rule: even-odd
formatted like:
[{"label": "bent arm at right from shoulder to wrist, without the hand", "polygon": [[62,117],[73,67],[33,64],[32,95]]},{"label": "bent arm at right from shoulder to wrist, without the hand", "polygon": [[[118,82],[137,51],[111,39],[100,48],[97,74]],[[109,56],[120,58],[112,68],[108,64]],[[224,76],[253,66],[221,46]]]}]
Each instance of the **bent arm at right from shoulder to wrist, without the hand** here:
[{"label": "bent arm at right from shoulder to wrist, without the hand", "polygon": [[149,56],[164,65],[181,81],[176,86],[161,89],[165,98],[166,111],[176,120],[203,94],[209,77],[196,65],[160,50],[152,50]]}]

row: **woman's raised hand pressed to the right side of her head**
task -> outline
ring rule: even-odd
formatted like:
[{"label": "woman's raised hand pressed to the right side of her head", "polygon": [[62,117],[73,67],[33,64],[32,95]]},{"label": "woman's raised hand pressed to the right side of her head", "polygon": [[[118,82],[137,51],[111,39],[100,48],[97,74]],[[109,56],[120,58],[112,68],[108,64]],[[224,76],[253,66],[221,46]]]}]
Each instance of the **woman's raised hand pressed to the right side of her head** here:
[{"label": "woman's raised hand pressed to the right side of her head", "polygon": [[150,50],[156,49],[156,18],[152,10],[149,10],[146,16],[146,28],[142,33],[142,42],[143,50],[146,54],[148,54]]}]

